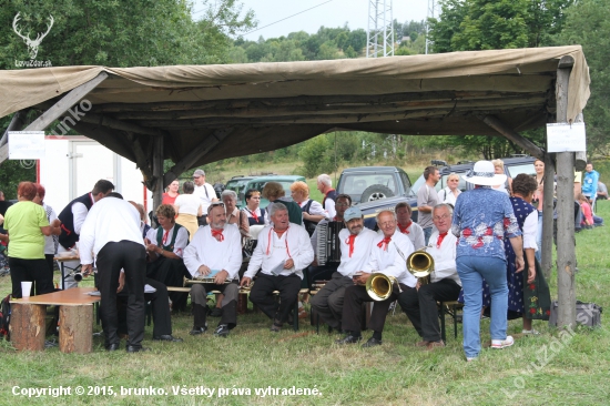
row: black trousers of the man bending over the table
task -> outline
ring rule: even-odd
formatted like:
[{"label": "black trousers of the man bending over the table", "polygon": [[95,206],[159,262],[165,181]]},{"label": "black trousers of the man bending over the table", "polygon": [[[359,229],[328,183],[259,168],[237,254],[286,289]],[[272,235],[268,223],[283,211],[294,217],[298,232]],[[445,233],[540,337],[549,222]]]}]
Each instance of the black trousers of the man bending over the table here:
[{"label": "black trousers of the man bending over the table", "polygon": [[142,346],[144,338],[144,275],[146,274],[146,250],[133,241],[106,243],[96,258],[99,290],[101,293],[100,314],[105,335],[105,345],[119,344],[119,315],[116,313],[116,288],[121,268],[125,271],[128,298],[128,345]]}]

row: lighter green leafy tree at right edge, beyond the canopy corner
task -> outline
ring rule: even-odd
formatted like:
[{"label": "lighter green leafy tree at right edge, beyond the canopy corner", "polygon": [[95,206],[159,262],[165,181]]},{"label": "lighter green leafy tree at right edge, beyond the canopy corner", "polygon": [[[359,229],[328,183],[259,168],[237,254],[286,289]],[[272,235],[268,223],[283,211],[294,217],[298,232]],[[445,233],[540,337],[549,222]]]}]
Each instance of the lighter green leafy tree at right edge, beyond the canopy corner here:
[{"label": "lighter green leafy tree at right edge, beyond the canopy corner", "polygon": [[566,10],[557,44],[580,44],[589,64],[591,97],[584,110],[587,150],[610,155],[610,0],[583,0]]}]

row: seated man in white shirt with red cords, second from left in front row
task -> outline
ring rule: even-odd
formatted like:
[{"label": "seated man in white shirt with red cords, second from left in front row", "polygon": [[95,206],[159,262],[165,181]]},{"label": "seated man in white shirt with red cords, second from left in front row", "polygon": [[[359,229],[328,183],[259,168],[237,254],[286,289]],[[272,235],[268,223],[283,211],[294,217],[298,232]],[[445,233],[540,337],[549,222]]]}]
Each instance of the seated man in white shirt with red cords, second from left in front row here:
[{"label": "seated man in white shirt with red cords, second from left in front row", "polygon": [[[309,234],[301,225],[288,222],[288,209],[282,203],[270,204],[273,226],[258,234],[258,244],[250,258],[241,285],[248,285],[258,272],[250,300],[273,319],[272,332],[279,332],[297,302],[303,270],[314,260]],[[279,305],[273,292],[279,291]]]}]

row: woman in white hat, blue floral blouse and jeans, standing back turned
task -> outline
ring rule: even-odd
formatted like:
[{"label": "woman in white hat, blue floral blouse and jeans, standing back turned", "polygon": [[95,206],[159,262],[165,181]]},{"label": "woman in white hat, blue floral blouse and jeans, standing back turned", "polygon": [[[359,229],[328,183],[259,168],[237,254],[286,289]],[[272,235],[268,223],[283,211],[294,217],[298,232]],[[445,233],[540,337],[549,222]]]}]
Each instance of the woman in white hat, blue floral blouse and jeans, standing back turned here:
[{"label": "woman in white hat, blue floral blouse and jeans, standing back turned", "polygon": [[492,186],[502,184],[506,175],[496,174],[494,164],[479,161],[462,176],[475,189],[461,193],[456,202],[451,232],[458,237],[456,265],[464,290],[464,352],[466,359],[475,359],[480,352],[480,312],[482,280],[491,293],[491,348],[512,345],[506,335],[508,287],[504,238],[517,255],[517,272],[523,270],[521,231],[508,195]]}]

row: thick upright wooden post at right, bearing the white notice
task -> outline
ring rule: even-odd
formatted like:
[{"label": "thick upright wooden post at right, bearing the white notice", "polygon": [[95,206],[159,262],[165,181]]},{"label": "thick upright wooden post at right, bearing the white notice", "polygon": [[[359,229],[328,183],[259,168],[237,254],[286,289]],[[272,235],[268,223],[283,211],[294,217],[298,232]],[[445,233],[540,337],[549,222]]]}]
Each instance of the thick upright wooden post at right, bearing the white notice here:
[{"label": "thick upright wooden post at right, bearing the white notice", "polygon": [[[568,84],[571,57],[561,58],[557,69],[557,122],[568,122]],[[576,327],[575,154],[557,153],[557,291],[560,328]]]}]

